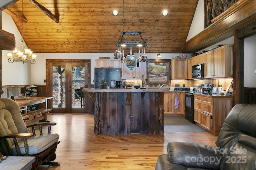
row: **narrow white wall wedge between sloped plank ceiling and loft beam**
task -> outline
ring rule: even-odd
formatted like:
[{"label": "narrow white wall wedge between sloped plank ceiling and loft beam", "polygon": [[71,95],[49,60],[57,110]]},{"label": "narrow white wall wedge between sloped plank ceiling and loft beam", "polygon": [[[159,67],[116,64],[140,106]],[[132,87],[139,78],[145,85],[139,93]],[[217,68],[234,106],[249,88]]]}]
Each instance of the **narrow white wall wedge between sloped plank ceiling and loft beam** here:
[{"label": "narrow white wall wedge between sloped plank ceiling and loft beam", "polygon": [[194,14],[194,18],[190,25],[190,30],[188,32],[187,40],[190,40],[195,35],[204,30],[204,0],[198,0],[198,4],[196,6],[196,11]]}]

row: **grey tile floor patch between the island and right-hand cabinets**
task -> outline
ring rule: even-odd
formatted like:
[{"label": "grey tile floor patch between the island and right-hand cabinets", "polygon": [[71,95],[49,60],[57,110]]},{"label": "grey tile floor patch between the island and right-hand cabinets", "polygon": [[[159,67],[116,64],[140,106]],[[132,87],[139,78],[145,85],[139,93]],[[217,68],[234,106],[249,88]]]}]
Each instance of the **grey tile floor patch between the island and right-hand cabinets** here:
[{"label": "grey tile floor patch between the island and right-hand cabinets", "polygon": [[183,116],[164,116],[164,133],[208,132]]}]

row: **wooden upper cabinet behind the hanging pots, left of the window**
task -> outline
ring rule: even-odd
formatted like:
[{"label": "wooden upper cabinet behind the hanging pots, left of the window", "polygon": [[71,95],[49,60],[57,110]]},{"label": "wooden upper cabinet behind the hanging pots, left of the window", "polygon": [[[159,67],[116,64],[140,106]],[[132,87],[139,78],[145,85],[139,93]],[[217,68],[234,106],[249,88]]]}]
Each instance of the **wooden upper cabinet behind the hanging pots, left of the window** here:
[{"label": "wooden upper cabinet behind the hanging pots, left of the window", "polygon": [[143,75],[147,77],[146,62],[140,62],[139,67],[135,66],[132,70],[126,66],[126,63],[122,64],[122,79],[141,79]]}]

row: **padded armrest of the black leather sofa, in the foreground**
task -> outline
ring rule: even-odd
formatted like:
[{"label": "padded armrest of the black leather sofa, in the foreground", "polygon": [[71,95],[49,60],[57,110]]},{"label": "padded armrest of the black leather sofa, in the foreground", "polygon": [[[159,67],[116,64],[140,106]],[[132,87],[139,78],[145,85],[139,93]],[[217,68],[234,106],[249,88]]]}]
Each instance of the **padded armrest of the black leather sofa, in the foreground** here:
[{"label": "padded armrest of the black leather sofa, in the foreground", "polygon": [[202,144],[170,142],[168,157],[172,163],[199,168],[218,169],[221,155],[218,147]]}]

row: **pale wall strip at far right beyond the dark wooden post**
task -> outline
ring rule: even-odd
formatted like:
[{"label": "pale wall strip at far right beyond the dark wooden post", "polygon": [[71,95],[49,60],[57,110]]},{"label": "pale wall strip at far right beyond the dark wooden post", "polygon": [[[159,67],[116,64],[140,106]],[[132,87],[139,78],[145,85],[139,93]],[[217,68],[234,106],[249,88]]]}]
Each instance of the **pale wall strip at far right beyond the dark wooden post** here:
[{"label": "pale wall strip at far right beyond the dark wooden post", "polygon": [[244,39],[244,87],[256,87],[256,35]]}]

